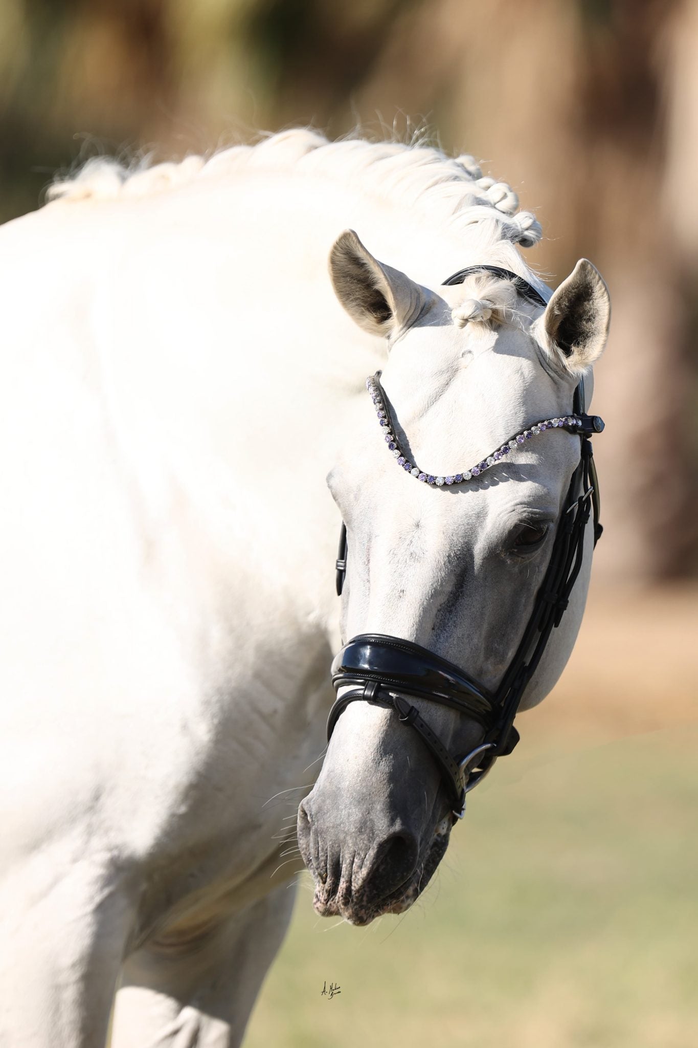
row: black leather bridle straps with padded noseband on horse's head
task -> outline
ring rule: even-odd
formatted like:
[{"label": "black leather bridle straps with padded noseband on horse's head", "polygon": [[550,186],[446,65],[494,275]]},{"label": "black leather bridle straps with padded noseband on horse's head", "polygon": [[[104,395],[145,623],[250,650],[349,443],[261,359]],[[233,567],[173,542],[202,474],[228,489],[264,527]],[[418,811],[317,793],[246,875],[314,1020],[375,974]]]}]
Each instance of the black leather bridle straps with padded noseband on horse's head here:
[{"label": "black leather bridle straps with padded noseband on horse's head", "polygon": [[[469,266],[453,274],[444,284],[460,284],[471,274],[482,271],[513,281],[519,294],[535,305],[543,308],[547,305],[535,287],[499,266]],[[599,416],[586,414],[583,381],[575,390],[572,410],[581,419],[576,431],[580,437],[580,461],[569,482],[550,561],[533,612],[497,690],[488,691],[458,667],[420,645],[380,633],[353,637],[332,664],[333,685],[336,692],[342,691],[330,711],[328,741],[351,702],[365,701],[395,709],[403,724],[419,733],[436,762],[452,802],[454,821],[463,817],[466,793],[485,778],[498,757],[511,754],[519,741],[514,718],[550,633],[560,625],[569,603],[582,567],[584,533],[591,514],[594,546],[602,532],[599,482],[589,438],[600,433],[604,423]],[[342,523],[337,558],[338,595],[346,572],[346,527]],[[474,719],[485,732],[482,742],[460,760],[454,759],[406,696],[437,702]]]}]

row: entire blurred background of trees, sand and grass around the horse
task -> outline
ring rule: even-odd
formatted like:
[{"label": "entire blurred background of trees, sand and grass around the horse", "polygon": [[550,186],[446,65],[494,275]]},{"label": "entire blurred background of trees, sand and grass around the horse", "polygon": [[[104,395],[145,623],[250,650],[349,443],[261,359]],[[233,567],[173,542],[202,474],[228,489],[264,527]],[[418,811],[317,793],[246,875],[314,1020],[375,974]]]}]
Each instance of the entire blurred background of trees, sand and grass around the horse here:
[{"label": "entire blurred background of trees, sand and grass around the horse", "polygon": [[412,911],[335,926],[301,882],[250,1048],[698,1045],[697,57],[698,0],[0,0],[3,220],[100,153],[426,127],[536,212],[551,284],[611,290],[570,665]]}]

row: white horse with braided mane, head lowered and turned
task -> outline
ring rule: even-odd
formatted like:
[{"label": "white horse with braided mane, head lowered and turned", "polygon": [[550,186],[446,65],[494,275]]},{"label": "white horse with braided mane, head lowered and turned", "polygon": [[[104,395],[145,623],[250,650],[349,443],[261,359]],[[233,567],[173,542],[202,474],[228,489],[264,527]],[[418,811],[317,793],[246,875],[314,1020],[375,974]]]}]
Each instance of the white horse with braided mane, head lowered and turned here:
[{"label": "white horse with braided mane, head lowered and turned", "polygon": [[[52,196],[0,238],[0,1044],[100,1048],[120,985],[114,1048],[238,1045],[302,865],[289,818],[333,651],[389,633],[496,685],[579,457],[545,434],[450,497],[397,468],[364,379],[383,370],[414,456],[447,472],[571,410],[608,296],[589,263],[545,310],[492,275],[441,287],[488,263],[550,294],[515,194],[426,147],[291,131],[99,161]],[[527,706],[589,564],[590,545]],[[386,867],[393,885],[445,834],[438,771],[393,719],[348,707],[301,810],[316,904],[350,920],[353,889],[373,880],[381,912]]]}]

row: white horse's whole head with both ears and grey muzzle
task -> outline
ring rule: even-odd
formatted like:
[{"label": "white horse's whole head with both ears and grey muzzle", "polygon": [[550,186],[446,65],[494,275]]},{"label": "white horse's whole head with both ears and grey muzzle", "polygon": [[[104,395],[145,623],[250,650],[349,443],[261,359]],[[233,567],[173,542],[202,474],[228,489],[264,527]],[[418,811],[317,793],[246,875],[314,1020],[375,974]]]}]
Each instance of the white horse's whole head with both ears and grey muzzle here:
[{"label": "white horse's whole head with both ears and grey muzzle", "polygon": [[[532,304],[545,303],[514,274],[502,282],[506,270],[493,270],[498,281],[475,285],[481,299],[470,286],[430,291],[353,234],[331,271],[350,314],[392,349],[329,478],[346,525],[341,632],[353,640],[333,668],[330,745],[298,811],[298,843],[317,912],[365,924],[414,901],[446,851],[468,776],[511,751],[524,692],[521,708],[540,701],[571,651],[591,547],[578,496],[592,489],[587,437],[602,425],[575,390],[603,349],[608,296],[578,263],[536,318]],[[513,311],[517,292],[527,313]],[[551,635],[570,577],[570,611]]]}]

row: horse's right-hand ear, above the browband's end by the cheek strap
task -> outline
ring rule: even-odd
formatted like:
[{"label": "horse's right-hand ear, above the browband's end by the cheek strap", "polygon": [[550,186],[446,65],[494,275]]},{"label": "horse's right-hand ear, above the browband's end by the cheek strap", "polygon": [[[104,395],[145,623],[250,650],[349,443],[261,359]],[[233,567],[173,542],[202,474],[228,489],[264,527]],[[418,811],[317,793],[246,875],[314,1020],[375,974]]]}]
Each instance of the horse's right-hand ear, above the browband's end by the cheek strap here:
[{"label": "horse's right-hand ear, above the browband's end by the cheek strap", "polygon": [[611,301],[601,274],[580,259],[547,304],[543,348],[563,371],[579,375],[601,356],[610,318]]}]

